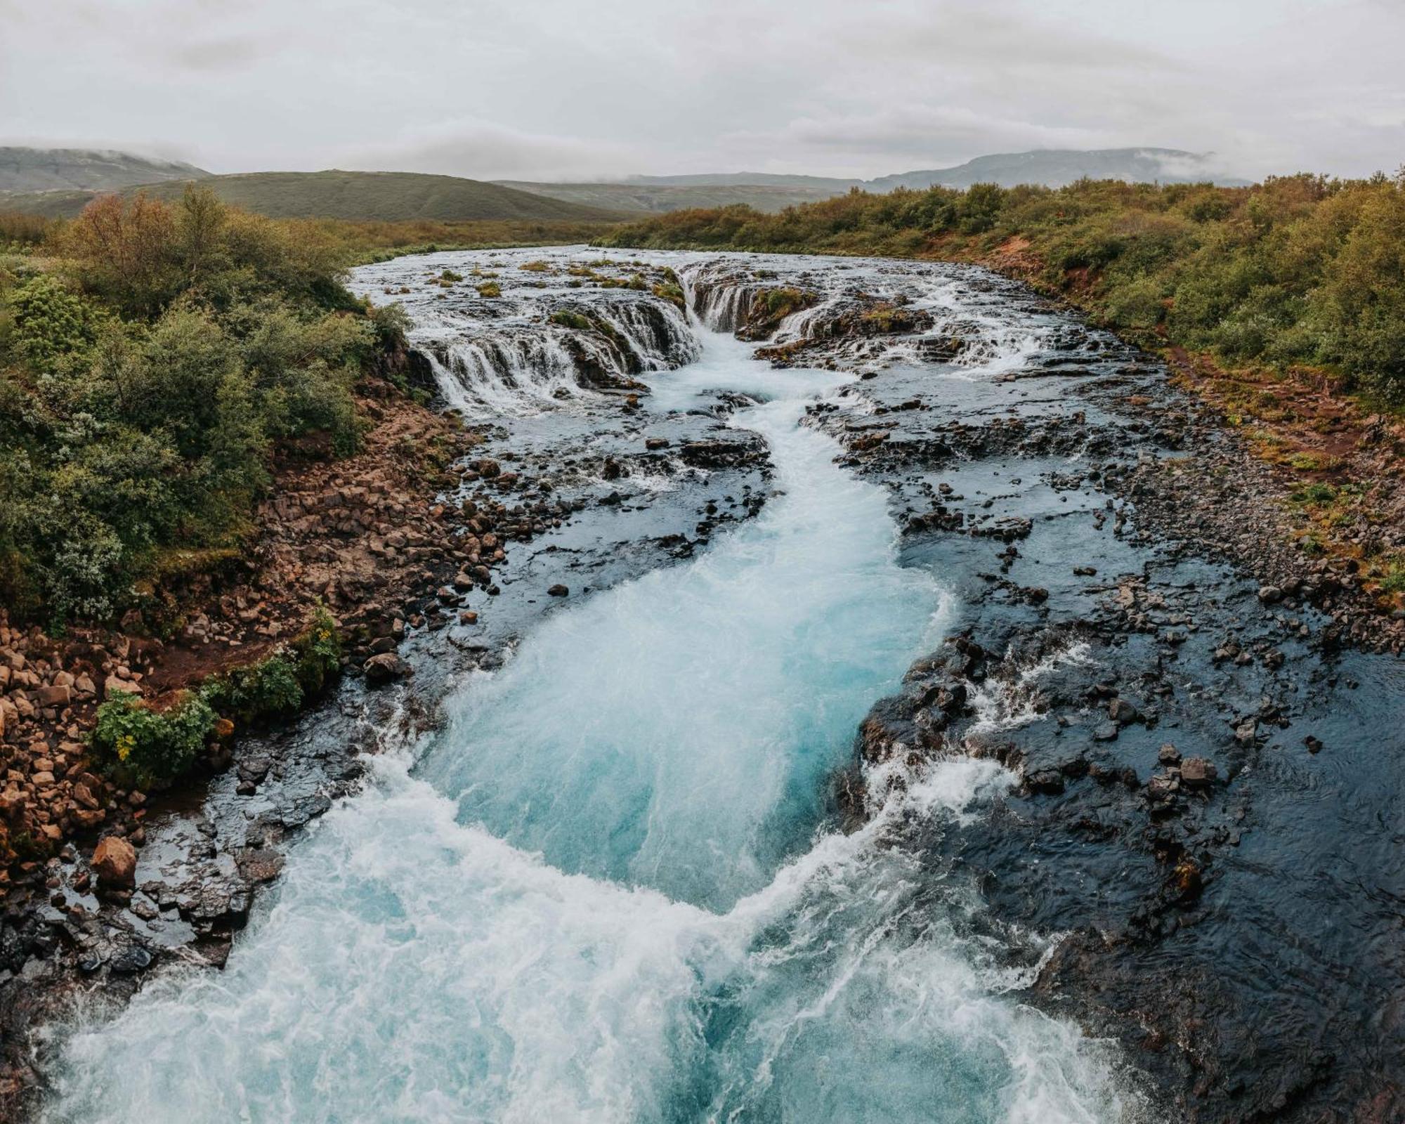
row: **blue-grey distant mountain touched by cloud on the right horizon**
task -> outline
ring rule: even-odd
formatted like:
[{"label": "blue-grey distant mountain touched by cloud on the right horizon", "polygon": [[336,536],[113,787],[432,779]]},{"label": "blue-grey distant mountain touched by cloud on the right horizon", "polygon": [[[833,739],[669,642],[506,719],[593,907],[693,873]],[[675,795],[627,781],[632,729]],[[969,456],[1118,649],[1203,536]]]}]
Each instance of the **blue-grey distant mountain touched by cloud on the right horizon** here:
[{"label": "blue-grey distant mountain touched by cloud on the right horizon", "polygon": [[1242,185],[1217,174],[1208,156],[1180,149],[1037,149],[978,156],[955,167],[929,171],[902,171],[868,180],[868,191],[892,191],[895,187],[923,188],[971,187],[971,184],[1044,184],[1066,187],[1078,180],[1125,180],[1127,183],[1201,183],[1213,180],[1227,185]]}]

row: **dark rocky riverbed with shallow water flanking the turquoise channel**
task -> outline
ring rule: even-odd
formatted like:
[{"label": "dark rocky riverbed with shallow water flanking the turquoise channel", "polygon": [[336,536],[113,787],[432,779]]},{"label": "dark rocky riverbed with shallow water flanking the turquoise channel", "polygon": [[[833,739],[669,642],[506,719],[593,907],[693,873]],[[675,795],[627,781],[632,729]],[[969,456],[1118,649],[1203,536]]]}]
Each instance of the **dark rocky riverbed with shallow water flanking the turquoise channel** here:
[{"label": "dark rocky riverbed with shallow water flanking the turquoise channel", "polygon": [[[1087,1093],[1076,1118],[1405,1111],[1405,622],[1346,563],[1294,547],[1266,469],[1158,362],[971,267],[485,251],[357,284],[406,302],[441,405],[468,423],[445,429],[452,483],[417,537],[379,530],[367,481],[281,497],[280,572],[361,611],[365,674],[289,729],[237,739],[208,791],[122,821],[142,844],[129,889],[98,892],[76,849],[44,867],[0,941],[11,1103],[66,1082],[49,1111],[83,1118],[69,1071],[94,1054],[67,1045],[73,1027],[101,1027],[152,975],[178,991],[209,971],[190,965],[222,965],[250,915],[271,924],[260,902],[278,901],[288,847],[364,784],[364,754],[422,754],[444,700],[544,618],[707,558],[774,507],[773,448],[733,420],[837,371],[801,424],[882,489],[896,561],[946,607],[934,651],[856,714],[853,763],[805,798],[821,813],[799,837],[881,839],[913,864],[884,932],[940,919],[1006,981],[999,1002],[1117,1044],[1120,1092]],[[724,375],[690,374],[704,326],[756,348],[717,392]],[[409,584],[385,589],[406,554]],[[978,809],[913,797],[968,760],[1007,778]],[[953,1118],[1013,1118],[981,1097]]]}]

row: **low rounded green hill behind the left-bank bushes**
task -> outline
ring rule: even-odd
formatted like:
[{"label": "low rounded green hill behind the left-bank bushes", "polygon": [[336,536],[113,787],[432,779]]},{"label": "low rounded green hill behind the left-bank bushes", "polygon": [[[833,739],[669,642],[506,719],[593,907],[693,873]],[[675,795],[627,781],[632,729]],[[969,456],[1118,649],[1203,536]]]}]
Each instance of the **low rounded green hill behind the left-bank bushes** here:
[{"label": "low rounded green hill behind the left-bank bushes", "polygon": [[[481,219],[610,221],[620,215],[596,207],[514,191],[499,184],[454,176],[422,176],[412,171],[254,171],[211,176],[222,202],[268,218],[327,218],[358,222],[466,222]],[[149,198],[174,202],[183,181],[148,184],[122,194],[145,191]],[[0,209],[49,218],[73,218],[96,192],[65,191],[0,197]]]}]

